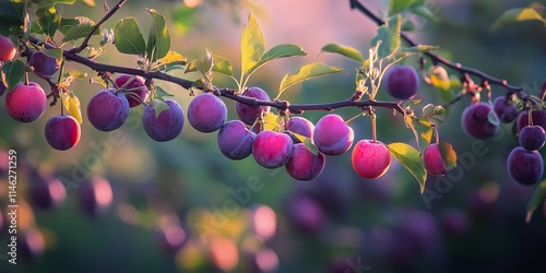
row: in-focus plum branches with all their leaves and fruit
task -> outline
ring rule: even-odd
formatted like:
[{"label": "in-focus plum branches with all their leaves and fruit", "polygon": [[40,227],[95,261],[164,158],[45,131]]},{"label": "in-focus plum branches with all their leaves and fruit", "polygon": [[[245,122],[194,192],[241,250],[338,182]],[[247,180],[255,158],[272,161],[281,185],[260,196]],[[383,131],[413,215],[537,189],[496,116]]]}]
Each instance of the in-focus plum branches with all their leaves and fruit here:
[{"label": "in-focus plum branches with all their leaves and fruit", "polygon": [[[456,147],[440,141],[437,128],[446,120],[449,107],[463,96],[470,96],[472,104],[462,115],[462,130],[470,138],[485,140],[498,134],[500,122],[514,123],[522,147],[514,149],[507,159],[508,173],[523,185],[536,185],[543,178],[544,163],[536,150],[544,146],[544,91],[538,95],[479,70],[453,63],[436,54],[436,46],[420,45],[408,38],[404,31],[411,28],[411,17],[437,20],[425,1],[391,0],[384,20],[359,1],[349,1],[353,9],[378,24],[377,35],[365,52],[335,43],[321,48],[321,55],[336,54],[355,63],[355,86],[343,91],[346,99],[322,104],[290,104],[282,99],[295,84],[345,72],[321,61],[286,73],[275,91],[250,86],[256,71],[269,62],[307,55],[297,45],[268,45],[252,13],[241,29],[240,60],[228,60],[209,50],[203,50],[203,56],[195,59],[188,59],[171,49],[174,40],[168,22],[156,10],[146,9],[151,25],[146,27],[149,33],[143,33],[135,17],[110,22],[126,0],[106,7],[107,12],[99,22],[61,14],[59,5],[81,4],[76,2],[80,1],[3,1],[0,5],[0,61],[3,62],[7,109],[15,120],[31,122],[40,118],[47,100],[50,106],[61,105],[60,116],[47,117],[49,121],[45,128],[45,138],[54,149],[68,150],[78,144],[82,115],[86,115],[97,130],[111,131],[126,122],[130,107],[140,107],[145,132],[155,141],[176,139],[187,117],[198,131],[217,132],[218,147],[226,157],[241,159],[252,154],[260,166],[285,166],[298,180],[314,179],[328,161],[352,149],[355,171],[365,178],[378,178],[389,170],[392,155],[415,177],[423,192],[428,175],[443,176],[455,167]],[[94,5],[94,1],[82,2]],[[494,28],[522,20],[544,21],[538,8],[508,11]],[[134,56],[131,68],[95,61],[108,44],[121,55]],[[402,64],[408,57],[420,62]],[[240,71],[234,71],[232,61],[240,63]],[[96,75],[81,72],[83,67],[91,68]],[[192,76],[197,74],[199,79],[192,81],[188,80],[190,75],[188,79],[171,75],[177,70]],[[29,82],[29,73],[48,85]],[[216,76],[232,79],[237,87],[216,86]],[[85,114],[80,106],[81,91],[71,88],[71,82],[78,79],[98,83],[88,87],[96,92]],[[176,83],[181,88],[164,90],[164,82]],[[423,84],[434,85],[442,94],[451,90],[459,90],[459,93],[444,96],[442,105],[413,99]],[[503,90],[495,103],[491,102],[491,85]],[[179,103],[168,98],[169,93],[176,92],[199,94],[188,109],[182,109]],[[387,92],[392,100],[378,100],[380,92]],[[236,102],[240,121],[227,120],[226,99]],[[314,126],[305,119],[305,111],[335,111],[342,107],[358,108],[360,112],[355,117],[330,112]],[[376,130],[377,120],[382,118],[376,112],[377,108],[391,109],[392,115],[402,119],[415,135],[415,143],[382,143],[381,132]],[[363,118],[371,119],[370,140],[354,139],[351,123]],[[537,188],[530,213],[546,194],[544,189]],[[84,206],[90,205],[84,203]]]}]

